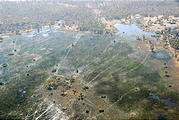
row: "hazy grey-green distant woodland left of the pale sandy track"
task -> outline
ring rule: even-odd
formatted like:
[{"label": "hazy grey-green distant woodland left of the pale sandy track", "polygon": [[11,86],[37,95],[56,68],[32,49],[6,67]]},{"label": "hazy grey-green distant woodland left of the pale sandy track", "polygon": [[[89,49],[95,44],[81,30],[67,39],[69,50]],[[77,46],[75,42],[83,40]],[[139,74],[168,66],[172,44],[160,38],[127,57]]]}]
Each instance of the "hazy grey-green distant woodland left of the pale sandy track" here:
[{"label": "hazy grey-green distant woodland left of the pale sandy track", "polygon": [[4,1],[0,4],[0,11],[0,32],[2,33],[16,33],[18,30],[53,25],[58,20],[65,20],[65,25],[68,26],[78,25],[82,31],[95,32],[104,28],[102,23],[98,24],[93,10],[84,6],[84,2]]}]

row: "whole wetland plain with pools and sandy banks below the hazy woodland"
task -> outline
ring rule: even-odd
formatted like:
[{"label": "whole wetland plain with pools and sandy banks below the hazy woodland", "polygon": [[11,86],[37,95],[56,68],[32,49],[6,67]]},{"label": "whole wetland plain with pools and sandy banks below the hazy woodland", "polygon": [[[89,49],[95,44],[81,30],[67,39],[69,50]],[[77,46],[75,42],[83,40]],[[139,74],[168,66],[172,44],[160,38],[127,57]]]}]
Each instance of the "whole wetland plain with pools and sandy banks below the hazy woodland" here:
[{"label": "whole wetland plain with pools and sandy banks below the hazy woodland", "polygon": [[[70,12],[63,11],[65,17],[54,23],[43,21],[27,31],[0,34],[0,119],[177,120],[179,79],[173,67],[177,57],[163,39],[177,39],[171,32],[177,29],[148,31],[139,24],[143,18],[138,14],[126,21],[117,17],[111,24],[117,14],[106,13],[106,24],[96,25],[93,15],[100,18],[106,9],[87,3],[59,3],[65,9],[70,6],[70,12],[75,8],[73,22],[66,20]],[[91,15],[87,24],[79,16],[81,23],[76,22],[75,17],[76,5],[84,4]],[[106,30],[107,26],[112,30]]]}]

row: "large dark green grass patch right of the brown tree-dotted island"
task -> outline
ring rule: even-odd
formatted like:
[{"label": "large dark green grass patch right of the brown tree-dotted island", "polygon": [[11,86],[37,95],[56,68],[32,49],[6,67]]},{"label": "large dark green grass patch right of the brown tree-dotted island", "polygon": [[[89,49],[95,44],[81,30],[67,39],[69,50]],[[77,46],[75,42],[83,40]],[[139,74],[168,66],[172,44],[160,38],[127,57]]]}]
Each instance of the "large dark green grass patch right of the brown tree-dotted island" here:
[{"label": "large dark green grass patch right of the brown tree-dotted island", "polygon": [[[128,64],[130,64],[130,68],[136,68],[135,63],[130,62]],[[123,76],[120,75],[123,73],[121,71],[114,72],[117,71],[117,68],[112,67],[110,69],[113,71],[107,71],[104,73],[105,75],[102,74],[101,77],[96,79],[98,84],[95,86],[95,90],[99,95],[107,95],[111,104],[117,105],[120,110],[130,112],[138,109],[140,113],[147,111],[152,117],[156,114],[155,109],[162,110],[166,107],[169,108],[163,102],[149,99],[150,93],[155,93],[161,98],[173,97],[173,91],[168,90],[165,84],[162,83],[162,77],[158,72],[149,72],[150,68],[137,66],[131,72],[127,68],[124,68],[123,72],[127,72],[127,74]],[[113,76],[112,78],[110,77],[111,75]],[[177,96],[173,99],[175,102],[178,100]],[[173,109],[176,110],[177,107]],[[170,113],[170,117],[176,118],[175,114],[177,114],[176,111]],[[139,118],[146,118],[146,116]]]}]

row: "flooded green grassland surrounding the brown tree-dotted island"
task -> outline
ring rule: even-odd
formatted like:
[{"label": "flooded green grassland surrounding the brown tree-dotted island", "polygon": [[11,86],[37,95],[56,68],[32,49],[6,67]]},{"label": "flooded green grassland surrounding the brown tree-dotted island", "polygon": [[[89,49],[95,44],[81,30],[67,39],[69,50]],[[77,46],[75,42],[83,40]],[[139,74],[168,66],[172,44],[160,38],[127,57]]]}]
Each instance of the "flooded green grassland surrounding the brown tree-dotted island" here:
[{"label": "flooded green grassland surrounding the brown tree-dotted island", "polygon": [[[79,82],[81,79],[84,82],[80,84],[81,88],[77,89],[82,93],[87,92],[85,97],[90,102],[88,101],[87,104],[81,100],[74,101],[69,112],[70,114],[76,110],[74,119],[86,119],[89,114],[101,119],[106,115],[111,118],[122,116],[129,119],[135,116],[136,119],[151,119],[156,118],[157,112],[166,114],[165,109],[171,110],[167,113],[168,118],[178,114],[178,93],[166,87],[160,71],[150,67],[155,66],[153,64],[155,60],[163,65],[163,61],[171,59],[165,51],[155,53],[142,51],[137,52],[139,54],[137,55],[136,50],[133,49],[137,44],[131,46],[128,44],[130,40],[124,42],[120,35],[80,35],[73,32],[50,31],[48,31],[49,36],[46,34],[14,38],[16,45],[20,46],[17,55],[11,56],[7,61],[5,60],[7,58],[1,58],[1,61],[6,61],[8,66],[3,74],[0,73],[2,76],[0,82],[6,82],[3,88],[0,88],[2,103],[0,118],[10,119],[16,116],[24,118],[31,104],[34,102],[37,106],[40,104],[36,98],[30,99],[34,91],[54,74],[65,77],[75,76],[74,84],[77,85],[81,83]],[[3,50],[4,54],[11,51],[4,47]],[[76,88],[72,86],[72,89]],[[55,96],[58,90],[57,88],[44,93],[40,91],[40,94]],[[149,98],[151,93],[160,96],[162,100]],[[51,97],[53,104],[46,105],[42,111],[52,106],[53,110],[56,110],[54,105],[59,98],[58,95],[56,96],[56,99]],[[174,106],[167,105],[171,101],[175,103]],[[67,102],[69,100],[65,103]],[[37,106],[30,113],[33,113]],[[113,114],[109,113],[110,110]],[[38,113],[39,116],[43,113],[41,112]],[[118,112],[119,115],[115,114]],[[124,116],[121,112],[125,113]],[[103,113],[104,117],[100,116]],[[45,115],[50,117],[50,113],[45,113],[42,118]]]}]

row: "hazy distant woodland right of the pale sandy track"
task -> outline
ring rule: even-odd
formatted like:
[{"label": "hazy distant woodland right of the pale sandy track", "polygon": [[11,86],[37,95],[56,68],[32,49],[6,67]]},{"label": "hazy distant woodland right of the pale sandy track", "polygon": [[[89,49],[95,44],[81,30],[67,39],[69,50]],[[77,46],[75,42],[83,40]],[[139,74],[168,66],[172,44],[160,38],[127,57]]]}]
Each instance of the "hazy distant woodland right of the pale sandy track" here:
[{"label": "hazy distant woodland right of the pale sandy track", "polygon": [[101,5],[107,19],[121,19],[129,15],[178,16],[179,3],[176,1],[114,1]]}]

